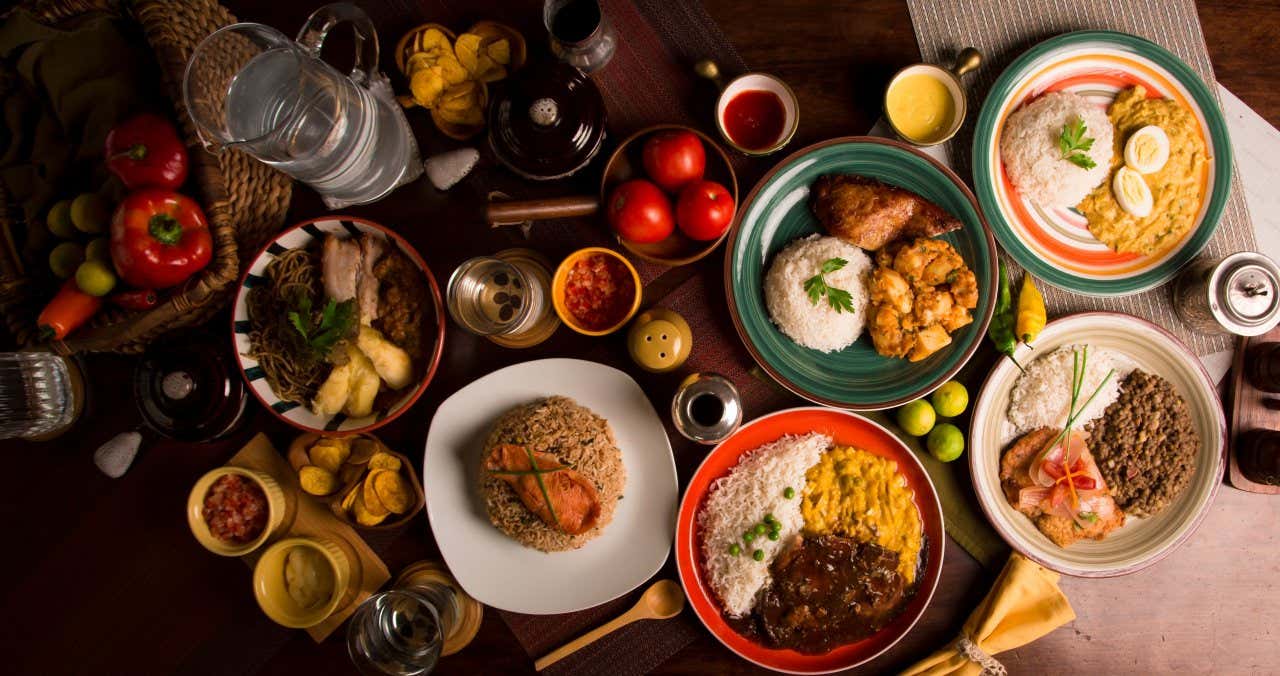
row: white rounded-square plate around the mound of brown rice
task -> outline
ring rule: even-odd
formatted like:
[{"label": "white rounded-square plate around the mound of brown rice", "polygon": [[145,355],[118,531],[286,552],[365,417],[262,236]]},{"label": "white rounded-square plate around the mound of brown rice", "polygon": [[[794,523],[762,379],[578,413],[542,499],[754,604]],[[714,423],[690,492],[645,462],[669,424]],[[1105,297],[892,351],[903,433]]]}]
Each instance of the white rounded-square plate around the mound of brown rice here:
[{"label": "white rounded-square plate around the mound of brown rice", "polygon": [[[481,447],[498,416],[556,394],[609,421],[627,483],[599,538],[544,553],[490,524],[476,487]],[[662,568],[676,534],[676,462],[662,420],[631,376],[591,361],[527,361],[460,389],[431,420],[422,481],[449,571],[476,600],[504,611],[564,613],[618,598]]]}]

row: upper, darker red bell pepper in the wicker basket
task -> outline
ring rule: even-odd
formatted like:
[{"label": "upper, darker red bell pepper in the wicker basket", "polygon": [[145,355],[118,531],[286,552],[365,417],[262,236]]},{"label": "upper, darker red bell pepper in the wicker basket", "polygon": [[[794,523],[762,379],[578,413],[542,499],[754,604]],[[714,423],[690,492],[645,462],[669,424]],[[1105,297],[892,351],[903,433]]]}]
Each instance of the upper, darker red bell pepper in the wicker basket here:
[{"label": "upper, darker red bell pepper in the wicker basket", "polygon": [[106,168],[124,187],[170,188],[187,181],[187,149],[178,131],[165,118],[142,113],[106,134]]}]

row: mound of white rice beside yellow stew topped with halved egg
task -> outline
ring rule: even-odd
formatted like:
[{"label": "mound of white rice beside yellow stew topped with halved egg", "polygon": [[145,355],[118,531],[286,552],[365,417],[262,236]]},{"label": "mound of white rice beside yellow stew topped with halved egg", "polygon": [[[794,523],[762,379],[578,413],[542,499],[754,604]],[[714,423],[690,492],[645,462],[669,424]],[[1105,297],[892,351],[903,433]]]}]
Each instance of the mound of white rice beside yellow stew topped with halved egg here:
[{"label": "mound of white rice beside yellow stew topped with halved egg", "polygon": [[[1062,159],[1057,141],[1062,127],[1084,120],[1087,155],[1096,163],[1084,169]],[[1000,159],[1009,179],[1024,197],[1044,206],[1075,206],[1111,173],[1111,120],[1105,110],[1069,92],[1050,92],[1009,115],[1000,134]]]}]

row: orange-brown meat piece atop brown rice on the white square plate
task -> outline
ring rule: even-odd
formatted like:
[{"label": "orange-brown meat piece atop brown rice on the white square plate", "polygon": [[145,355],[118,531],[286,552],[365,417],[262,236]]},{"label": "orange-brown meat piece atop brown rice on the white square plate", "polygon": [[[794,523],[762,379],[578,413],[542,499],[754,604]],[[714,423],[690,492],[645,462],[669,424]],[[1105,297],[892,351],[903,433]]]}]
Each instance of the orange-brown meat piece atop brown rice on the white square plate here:
[{"label": "orange-brown meat piece atop brown rice on the white square plate", "polygon": [[[541,470],[539,474],[532,471],[530,455]],[[581,535],[600,519],[600,495],[591,480],[550,453],[530,453],[524,446],[502,444],[489,453],[484,467],[507,481],[538,519],[567,535]]]}]

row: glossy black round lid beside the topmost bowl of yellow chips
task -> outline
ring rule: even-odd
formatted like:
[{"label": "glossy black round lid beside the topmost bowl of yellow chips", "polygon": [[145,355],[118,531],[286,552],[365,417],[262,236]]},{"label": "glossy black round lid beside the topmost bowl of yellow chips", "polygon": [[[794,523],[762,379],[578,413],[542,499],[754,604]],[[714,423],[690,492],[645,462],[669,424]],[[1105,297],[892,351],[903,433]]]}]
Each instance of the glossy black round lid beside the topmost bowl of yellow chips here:
[{"label": "glossy black round lid beside the topmost bowl of yellow chips", "polygon": [[489,145],[525,178],[563,178],[599,152],[604,124],[604,99],[590,77],[562,63],[540,64],[489,106]]}]

